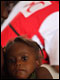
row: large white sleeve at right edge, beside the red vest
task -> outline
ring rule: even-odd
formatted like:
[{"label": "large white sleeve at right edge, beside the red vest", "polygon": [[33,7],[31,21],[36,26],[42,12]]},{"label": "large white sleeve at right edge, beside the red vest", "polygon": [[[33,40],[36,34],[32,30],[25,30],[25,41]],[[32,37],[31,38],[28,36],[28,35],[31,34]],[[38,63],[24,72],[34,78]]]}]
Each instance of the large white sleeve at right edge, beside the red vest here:
[{"label": "large white sleeve at right edge, beside the red vest", "polygon": [[39,32],[44,37],[50,65],[59,65],[59,12],[49,15],[41,25]]}]

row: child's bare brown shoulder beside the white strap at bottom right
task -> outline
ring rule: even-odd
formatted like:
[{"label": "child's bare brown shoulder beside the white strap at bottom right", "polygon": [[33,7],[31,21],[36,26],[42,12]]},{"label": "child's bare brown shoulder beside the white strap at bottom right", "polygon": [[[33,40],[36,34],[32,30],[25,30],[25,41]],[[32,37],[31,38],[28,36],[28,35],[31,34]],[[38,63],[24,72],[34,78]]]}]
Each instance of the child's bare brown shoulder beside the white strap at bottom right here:
[{"label": "child's bare brown shoulder beside the white strap at bottom right", "polygon": [[53,79],[51,73],[44,67],[40,67],[36,74],[38,79]]}]

